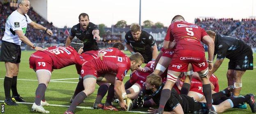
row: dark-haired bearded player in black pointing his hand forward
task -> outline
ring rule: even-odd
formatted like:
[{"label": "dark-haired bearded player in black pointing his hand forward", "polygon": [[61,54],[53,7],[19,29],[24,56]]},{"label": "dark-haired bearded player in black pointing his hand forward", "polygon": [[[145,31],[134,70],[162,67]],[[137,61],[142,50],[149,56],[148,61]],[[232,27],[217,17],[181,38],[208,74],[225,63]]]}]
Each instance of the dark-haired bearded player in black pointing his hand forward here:
[{"label": "dark-haired bearded player in black pointing his hand forward", "polygon": [[96,42],[101,39],[99,36],[98,26],[90,22],[89,15],[87,13],[81,13],[78,17],[79,23],[74,25],[70,31],[69,36],[66,39],[66,46],[69,46],[71,40],[77,37],[82,42],[84,42],[83,52],[89,50],[98,50],[98,44]]}]

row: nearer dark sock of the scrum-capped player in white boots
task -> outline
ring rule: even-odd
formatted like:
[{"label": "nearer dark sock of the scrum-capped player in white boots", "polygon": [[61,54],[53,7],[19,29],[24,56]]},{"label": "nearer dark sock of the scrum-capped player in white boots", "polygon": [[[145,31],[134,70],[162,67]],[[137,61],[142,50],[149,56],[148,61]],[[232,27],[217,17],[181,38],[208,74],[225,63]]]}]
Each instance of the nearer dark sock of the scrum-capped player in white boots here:
[{"label": "nearer dark sock of the scrum-capped player in white boots", "polygon": [[36,98],[35,98],[36,105],[41,104],[41,99],[45,94],[45,91],[46,91],[46,85],[44,83],[40,83],[36,90]]}]

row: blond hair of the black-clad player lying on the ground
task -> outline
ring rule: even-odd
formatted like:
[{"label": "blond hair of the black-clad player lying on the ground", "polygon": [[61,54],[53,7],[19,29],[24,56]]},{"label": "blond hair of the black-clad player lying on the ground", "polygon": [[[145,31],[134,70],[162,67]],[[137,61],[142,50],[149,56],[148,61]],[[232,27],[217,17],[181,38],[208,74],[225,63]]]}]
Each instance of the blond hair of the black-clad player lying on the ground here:
[{"label": "blond hair of the black-clad player lying on the ground", "polygon": [[159,87],[162,85],[162,78],[159,75],[150,74],[147,77],[146,82],[150,85],[155,85],[156,87]]}]

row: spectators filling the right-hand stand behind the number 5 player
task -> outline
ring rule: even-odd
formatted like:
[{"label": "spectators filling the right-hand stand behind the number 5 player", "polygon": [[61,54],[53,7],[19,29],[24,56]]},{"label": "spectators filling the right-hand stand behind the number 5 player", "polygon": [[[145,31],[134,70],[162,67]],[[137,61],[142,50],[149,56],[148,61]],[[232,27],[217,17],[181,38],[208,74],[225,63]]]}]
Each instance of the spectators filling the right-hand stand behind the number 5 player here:
[{"label": "spectators filling the right-hand stand behind the number 5 player", "polygon": [[234,20],[233,18],[195,19],[195,24],[205,30],[213,30],[217,34],[229,35],[243,40],[251,47],[256,46],[256,19]]}]

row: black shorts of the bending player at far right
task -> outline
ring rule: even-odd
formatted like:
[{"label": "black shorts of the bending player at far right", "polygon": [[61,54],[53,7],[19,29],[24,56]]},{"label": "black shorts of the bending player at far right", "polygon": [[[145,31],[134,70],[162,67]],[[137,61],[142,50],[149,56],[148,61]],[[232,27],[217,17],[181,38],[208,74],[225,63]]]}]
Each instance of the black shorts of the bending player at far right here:
[{"label": "black shorts of the bending player at far right", "polygon": [[235,59],[230,59],[229,70],[253,70],[253,53],[250,49],[248,52],[236,57]]}]

